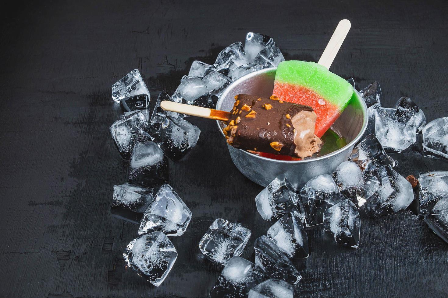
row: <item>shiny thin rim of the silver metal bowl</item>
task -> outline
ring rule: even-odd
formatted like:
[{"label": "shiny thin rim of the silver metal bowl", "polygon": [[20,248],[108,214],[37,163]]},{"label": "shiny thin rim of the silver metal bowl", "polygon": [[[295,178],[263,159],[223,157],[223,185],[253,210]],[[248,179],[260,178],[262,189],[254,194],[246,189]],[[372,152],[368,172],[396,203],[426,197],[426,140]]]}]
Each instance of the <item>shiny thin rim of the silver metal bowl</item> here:
[{"label": "shiny thin rim of the silver metal bowl", "polygon": [[[218,99],[218,102],[216,103],[216,109],[220,108],[220,105],[222,103],[222,99],[224,97],[226,97],[227,94],[233,89],[232,88],[233,86],[241,84],[241,82],[243,82],[243,81],[245,81],[247,79],[250,79],[250,78],[252,78],[254,76],[257,76],[257,75],[259,75],[261,73],[273,71],[273,70],[276,70],[276,69],[277,69],[277,67],[269,67],[269,68],[260,69],[258,71],[250,72],[247,75],[242,76],[241,78],[238,78],[236,81],[233,81],[230,85],[228,85],[227,88],[225,88],[224,92],[221,93],[220,98]],[[353,88],[353,90],[354,90],[354,92],[356,94],[356,98],[358,99],[359,103],[362,106],[362,113],[363,113],[363,117],[364,117],[364,119],[363,119],[364,121],[363,122],[364,123],[362,124],[362,128],[361,128],[360,132],[358,133],[358,135],[356,136],[356,138],[354,138],[350,143],[348,143],[344,147],[339,148],[338,150],[333,151],[333,152],[328,153],[328,154],[323,155],[323,156],[319,156],[319,157],[315,157],[315,158],[311,158],[311,159],[302,159],[302,160],[271,159],[271,158],[267,158],[267,157],[264,157],[264,156],[260,156],[260,155],[256,155],[256,154],[250,153],[250,152],[248,152],[246,150],[237,149],[237,148],[235,148],[235,149],[240,150],[240,151],[244,152],[244,154],[250,155],[251,157],[256,158],[256,159],[266,160],[266,161],[271,161],[271,162],[278,162],[278,163],[281,163],[281,164],[306,164],[306,163],[310,163],[310,162],[317,161],[317,160],[327,159],[327,158],[330,158],[330,157],[332,157],[334,155],[338,155],[340,152],[345,151],[347,147],[350,147],[352,145],[354,146],[354,144],[357,143],[359,141],[359,139],[361,139],[362,135],[366,131],[367,122],[369,120],[366,103],[362,100],[362,97],[361,97],[361,95],[359,95],[358,91],[356,91],[356,89],[354,89],[354,88]],[[220,130],[220,133],[224,136],[224,133],[222,132],[222,127],[220,125],[220,122],[221,121],[217,120],[216,124],[218,125],[218,129]]]}]

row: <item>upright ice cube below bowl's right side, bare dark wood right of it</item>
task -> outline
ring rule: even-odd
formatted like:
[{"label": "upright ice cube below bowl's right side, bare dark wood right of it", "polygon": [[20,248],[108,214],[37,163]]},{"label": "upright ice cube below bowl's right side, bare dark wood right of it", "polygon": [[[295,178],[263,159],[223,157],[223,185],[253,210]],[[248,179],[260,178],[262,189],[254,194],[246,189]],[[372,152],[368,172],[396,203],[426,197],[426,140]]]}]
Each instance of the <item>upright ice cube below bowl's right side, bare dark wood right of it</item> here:
[{"label": "upright ice cube below bowl's right side, bare dark wood right of it", "polygon": [[328,208],[323,214],[323,228],[334,235],[337,243],[357,248],[361,218],[355,204],[343,200]]}]

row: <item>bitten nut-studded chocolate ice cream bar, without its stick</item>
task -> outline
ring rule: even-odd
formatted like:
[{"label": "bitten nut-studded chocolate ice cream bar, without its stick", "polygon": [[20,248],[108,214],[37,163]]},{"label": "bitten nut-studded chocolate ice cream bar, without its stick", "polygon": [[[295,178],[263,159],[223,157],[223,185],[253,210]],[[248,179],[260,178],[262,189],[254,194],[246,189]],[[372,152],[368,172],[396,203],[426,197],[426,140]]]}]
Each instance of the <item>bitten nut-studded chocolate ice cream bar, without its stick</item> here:
[{"label": "bitten nut-studded chocolate ice cream bar, without its stick", "polygon": [[223,129],[235,148],[290,155],[299,158],[319,152],[322,141],[314,134],[316,113],[307,105],[247,94],[235,104]]}]

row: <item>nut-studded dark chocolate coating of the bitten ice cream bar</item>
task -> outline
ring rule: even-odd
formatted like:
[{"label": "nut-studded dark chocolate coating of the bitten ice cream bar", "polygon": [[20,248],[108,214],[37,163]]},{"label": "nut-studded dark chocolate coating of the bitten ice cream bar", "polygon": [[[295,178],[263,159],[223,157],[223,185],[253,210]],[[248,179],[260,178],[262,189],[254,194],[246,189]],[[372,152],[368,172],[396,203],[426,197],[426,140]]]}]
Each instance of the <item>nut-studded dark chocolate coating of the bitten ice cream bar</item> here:
[{"label": "nut-studded dark chocolate coating of the bitten ice cream bar", "polygon": [[235,148],[294,156],[291,119],[303,110],[313,111],[310,106],[279,101],[276,97],[239,94],[224,134]]}]

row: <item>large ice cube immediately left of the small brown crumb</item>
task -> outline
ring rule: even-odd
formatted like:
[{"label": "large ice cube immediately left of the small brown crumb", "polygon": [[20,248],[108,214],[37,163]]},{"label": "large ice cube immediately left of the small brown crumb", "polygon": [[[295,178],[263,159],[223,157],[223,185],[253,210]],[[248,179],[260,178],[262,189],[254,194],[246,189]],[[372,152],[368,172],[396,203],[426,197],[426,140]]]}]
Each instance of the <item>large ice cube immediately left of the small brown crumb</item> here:
[{"label": "large ice cube immediately left of the small brown crumb", "polygon": [[370,217],[396,213],[405,209],[414,200],[412,186],[405,177],[388,166],[381,166],[370,172],[380,180],[380,187],[361,206]]}]

